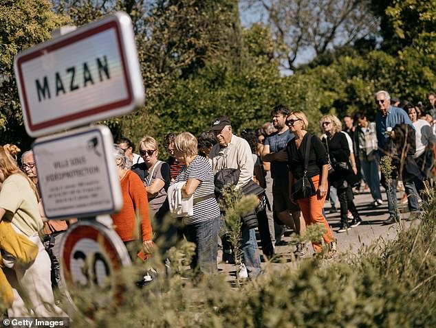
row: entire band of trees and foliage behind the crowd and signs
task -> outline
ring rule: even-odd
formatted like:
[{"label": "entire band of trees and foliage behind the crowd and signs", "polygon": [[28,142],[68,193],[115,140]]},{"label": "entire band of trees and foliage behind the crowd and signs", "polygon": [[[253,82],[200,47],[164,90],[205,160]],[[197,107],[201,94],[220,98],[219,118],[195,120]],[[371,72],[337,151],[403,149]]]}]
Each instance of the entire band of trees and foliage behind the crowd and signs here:
[{"label": "entire band of trees and foliage behind the crowd and signs", "polygon": [[[248,28],[241,28],[236,0],[3,1],[1,136],[30,141],[12,69],[17,51],[47,40],[59,25],[80,26],[116,10],[133,21],[146,103],[103,122],[115,137],[137,142],[144,134],[158,141],[167,132],[198,135],[217,115],[228,115],[240,132],[269,121],[270,108],[279,103],[304,110],[314,132],[323,113],[359,110],[371,118],[378,89],[412,102],[436,89],[435,1],[370,6],[351,0],[253,0],[269,6],[270,21]],[[374,34],[378,21],[380,34]],[[283,76],[283,58],[291,67],[305,47],[314,49],[314,60]]]}]

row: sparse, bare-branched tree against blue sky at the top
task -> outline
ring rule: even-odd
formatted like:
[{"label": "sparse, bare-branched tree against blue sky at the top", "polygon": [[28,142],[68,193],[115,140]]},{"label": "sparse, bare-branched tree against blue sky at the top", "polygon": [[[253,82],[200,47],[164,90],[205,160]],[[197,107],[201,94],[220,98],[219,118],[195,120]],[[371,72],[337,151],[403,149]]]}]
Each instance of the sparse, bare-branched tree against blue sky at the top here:
[{"label": "sparse, bare-branched tree against blue sky at the top", "polygon": [[373,34],[378,19],[365,0],[246,0],[251,10],[266,12],[276,42],[276,56],[294,71],[296,60],[349,45]]}]

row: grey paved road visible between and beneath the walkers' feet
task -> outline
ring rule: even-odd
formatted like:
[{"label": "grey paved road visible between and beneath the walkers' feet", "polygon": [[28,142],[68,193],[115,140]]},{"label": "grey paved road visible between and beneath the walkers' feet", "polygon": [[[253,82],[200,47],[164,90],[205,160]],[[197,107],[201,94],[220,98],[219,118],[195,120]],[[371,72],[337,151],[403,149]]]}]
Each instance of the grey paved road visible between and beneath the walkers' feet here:
[{"label": "grey paved road visible between and beneath the walkers' feet", "polygon": [[[375,241],[378,238],[382,238],[384,240],[392,239],[395,237],[397,233],[397,224],[391,225],[383,225],[383,220],[388,218],[389,214],[387,212],[387,202],[386,202],[386,194],[382,193],[384,197],[384,204],[380,207],[373,208],[371,207],[372,197],[369,192],[356,194],[354,203],[358,209],[362,217],[362,224],[357,226],[356,228],[350,229],[347,233],[336,233],[340,225],[340,214],[331,213],[329,214],[327,211],[327,221],[329,222],[331,228],[334,231],[334,237],[338,240],[338,253],[344,253],[347,251],[351,251],[353,253],[357,253],[358,250],[362,246],[366,246],[371,244],[371,242]],[[401,198],[404,192],[398,192],[397,197]],[[325,203],[325,209],[328,210],[330,207],[329,202]],[[402,210],[406,210],[406,207],[401,207]],[[411,222],[408,222],[404,219],[408,218],[409,213],[402,213],[402,224],[404,226],[409,226]],[[290,241],[290,237],[285,233],[284,239],[286,242]],[[259,244],[260,246],[260,244]],[[291,253],[294,251],[294,246],[276,246],[275,253],[276,259],[274,259],[274,264],[269,263],[272,266],[283,266],[292,265],[292,255]],[[307,255],[305,257],[312,256],[313,250],[312,246],[307,248]],[[262,263],[265,266],[265,263]],[[228,263],[219,263],[219,270],[226,274],[226,279],[229,281],[235,280],[236,267],[235,265]]]}]

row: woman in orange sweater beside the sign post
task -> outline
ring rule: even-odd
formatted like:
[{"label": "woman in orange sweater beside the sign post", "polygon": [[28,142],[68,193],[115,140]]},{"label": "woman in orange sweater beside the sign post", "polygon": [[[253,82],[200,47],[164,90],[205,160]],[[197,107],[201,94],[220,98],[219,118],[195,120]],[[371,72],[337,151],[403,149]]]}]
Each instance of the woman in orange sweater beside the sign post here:
[{"label": "woman in orange sweater beside the sign post", "polygon": [[[118,146],[114,146],[113,154],[116,158],[118,177],[122,191],[123,205],[120,212],[112,214],[113,229],[120,235],[121,240],[129,250],[131,259],[134,259],[137,250],[134,248],[134,241],[139,239],[138,223],[141,224],[142,246],[145,254],[151,254],[154,248],[153,232],[151,229],[149,215],[149,201],[146,198],[145,187],[138,174],[124,169],[126,156]],[[133,244],[129,246],[129,244]]]}]

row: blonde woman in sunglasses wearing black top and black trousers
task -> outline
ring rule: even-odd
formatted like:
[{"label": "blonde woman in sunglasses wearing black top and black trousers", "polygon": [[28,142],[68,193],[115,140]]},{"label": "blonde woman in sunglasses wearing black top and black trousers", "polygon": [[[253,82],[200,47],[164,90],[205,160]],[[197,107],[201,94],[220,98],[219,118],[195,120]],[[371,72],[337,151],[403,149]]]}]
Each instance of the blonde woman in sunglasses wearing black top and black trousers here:
[{"label": "blonde woman in sunglasses wearing black top and black trousers", "polygon": [[320,128],[325,132],[322,141],[329,159],[329,183],[338,189],[340,228],[337,232],[345,233],[350,228],[347,218],[348,211],[353,215],[351,227],[358,226],[362,222],[353,202],[353,191],[349,182],[354,176],[349,163],[349,145],[345,133],[341,132],[340,119],[335,115],[324,115],[320,120]]}]

